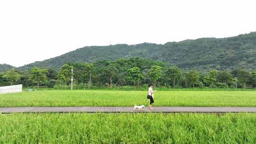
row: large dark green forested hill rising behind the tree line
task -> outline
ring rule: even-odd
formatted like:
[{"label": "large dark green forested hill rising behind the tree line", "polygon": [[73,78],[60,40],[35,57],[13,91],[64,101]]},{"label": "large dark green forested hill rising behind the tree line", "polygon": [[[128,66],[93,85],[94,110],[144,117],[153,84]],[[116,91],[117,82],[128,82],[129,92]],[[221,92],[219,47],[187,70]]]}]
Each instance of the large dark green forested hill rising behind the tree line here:
[{"label": "large dark green forested hill rising behind the tree line", "polygon": [[138,45],[85,46],[75,51],[41,62],[30,63],[18,70],[37,66],[59,69],[67,62],[95,62],[119,58],[142,57],[173,63],[182,69],[200,71],[256,68],[256,32],[227,38],[199,38],[165,45],[143,43]]}]

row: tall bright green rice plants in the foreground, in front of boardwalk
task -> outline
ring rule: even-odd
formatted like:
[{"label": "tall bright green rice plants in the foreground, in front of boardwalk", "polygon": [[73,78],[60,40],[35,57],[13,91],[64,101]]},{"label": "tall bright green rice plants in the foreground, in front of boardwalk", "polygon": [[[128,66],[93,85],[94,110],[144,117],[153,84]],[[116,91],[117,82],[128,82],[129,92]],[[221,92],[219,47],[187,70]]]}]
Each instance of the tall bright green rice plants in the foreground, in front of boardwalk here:
[{"label": "tall bright green rice plants in the foreground, in front of boardwalk", "polygon": [[256,144],[255,114],[0,114],[0,144]]}]

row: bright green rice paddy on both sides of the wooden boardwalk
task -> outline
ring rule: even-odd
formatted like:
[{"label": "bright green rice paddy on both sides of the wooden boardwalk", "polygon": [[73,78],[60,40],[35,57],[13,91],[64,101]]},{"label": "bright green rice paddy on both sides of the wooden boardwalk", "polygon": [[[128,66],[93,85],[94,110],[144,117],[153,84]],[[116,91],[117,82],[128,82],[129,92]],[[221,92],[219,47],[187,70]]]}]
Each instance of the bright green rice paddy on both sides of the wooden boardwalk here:
[{"label": "bright green rice paddy on both sides of the wooden boardwalk", "polygon": [[[0,107],[148,105],[146,91],[42,90]],[[157,91],[154,106],[255,107],[256,91]],[[0,114],[0,144],[256,144],[256,114]]]}]

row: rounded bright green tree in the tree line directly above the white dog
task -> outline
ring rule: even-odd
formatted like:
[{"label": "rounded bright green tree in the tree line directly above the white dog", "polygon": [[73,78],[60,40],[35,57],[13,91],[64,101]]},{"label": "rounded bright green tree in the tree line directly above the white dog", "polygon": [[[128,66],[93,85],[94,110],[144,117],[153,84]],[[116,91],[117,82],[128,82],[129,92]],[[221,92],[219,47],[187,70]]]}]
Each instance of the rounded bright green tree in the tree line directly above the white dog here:
[{"label": "rounded bright green tree in the tree line directly above the white dog", "polygon": [[140,72],[140,68],[133,67],[128,69],[126,78],[128,81],[131,81],[133,83],[133,86],[135,87],[135,83],[141,81],[144,78],[144,76]]}]

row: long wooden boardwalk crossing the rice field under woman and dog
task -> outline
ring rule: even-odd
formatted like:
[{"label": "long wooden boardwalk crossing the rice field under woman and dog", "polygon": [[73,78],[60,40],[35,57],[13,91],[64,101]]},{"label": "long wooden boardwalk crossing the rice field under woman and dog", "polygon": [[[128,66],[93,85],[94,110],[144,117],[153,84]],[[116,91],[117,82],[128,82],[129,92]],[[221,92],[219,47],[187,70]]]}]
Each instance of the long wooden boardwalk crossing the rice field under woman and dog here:
[{"label": "long wooden boardwalk crossing the rice field under woman and dog", "polygon": [[0,107],[0,113],[256,113],[256,107],[153,107],[133,110],[133,107]]}]

